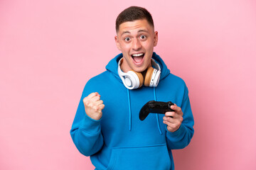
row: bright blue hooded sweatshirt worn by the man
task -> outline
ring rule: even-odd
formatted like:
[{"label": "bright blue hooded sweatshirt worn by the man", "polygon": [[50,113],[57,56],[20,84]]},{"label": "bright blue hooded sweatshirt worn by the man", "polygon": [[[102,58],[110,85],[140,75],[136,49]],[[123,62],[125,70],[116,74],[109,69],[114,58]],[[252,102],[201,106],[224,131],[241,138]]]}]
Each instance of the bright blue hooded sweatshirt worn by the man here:
[{"label": "bright blue hooded sweatshirt worn by the man", "polygon": [[[186,147],[193,137],[193,115],[185,82],[171,74],[159,55],[152,58],[161,67],[157,87],[127,89],[117,73],[117,55],[107,64],[107,71],[85,85],[70,130],[81,154],[90,156],[97,170],[174,169],[171,149]],[[98,92],[105,104],[102,118],[93,120],[85,113],[82,99]],[[148,101],[171,101],[181,107],[183,122],[176,132],[169,132],[163,114],[149,114],[139,120],[139,111]]]}]

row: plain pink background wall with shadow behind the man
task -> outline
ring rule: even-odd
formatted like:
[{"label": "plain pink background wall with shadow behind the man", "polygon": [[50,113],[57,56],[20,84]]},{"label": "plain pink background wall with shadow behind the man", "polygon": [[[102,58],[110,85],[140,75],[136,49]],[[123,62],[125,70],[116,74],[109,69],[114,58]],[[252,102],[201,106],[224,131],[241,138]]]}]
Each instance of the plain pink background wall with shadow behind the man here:
[{"label": "plain pink background wall with shadow behind the man", "polygon": [[1,0],[0,169],[93,169],[69,131],[132,5],[151,12],[155,51],[189,89],[195,134],[176,169],[256,169],[253,0]]}]

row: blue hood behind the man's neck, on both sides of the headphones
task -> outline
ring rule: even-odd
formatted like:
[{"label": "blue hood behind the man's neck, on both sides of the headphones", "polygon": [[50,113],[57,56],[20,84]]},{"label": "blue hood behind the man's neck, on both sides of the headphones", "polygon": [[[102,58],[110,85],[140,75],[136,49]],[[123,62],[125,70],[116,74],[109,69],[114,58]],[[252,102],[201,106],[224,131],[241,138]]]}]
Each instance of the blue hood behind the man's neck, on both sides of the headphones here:
[{"label": "blue hood behind the man's neck, on both sides of the headphones", "polygon": [[[112,72],[112,74],[114,74],[114,77],[119,79],[119,81],[122,81],[122,79],[120,79],[119,77],[117,68],[118,68],[118,62],[122,57],[123,55],[122,53],[120,53],[119,55],[114,57],[112,60],[110,60],[110,62],[106,66],[107,71]],[[160,81],[161,81],[161,79],[164,79],[170,74],[170,70],[167,69],[166,64],[164,63],[163,60],[161,60],[161,57],[159,57],[159,55],[156,55],[156,52],[153,52],[152,58],[155,60],[157,64],[159,64],[161,68],[161,75],[160,75]]]}]

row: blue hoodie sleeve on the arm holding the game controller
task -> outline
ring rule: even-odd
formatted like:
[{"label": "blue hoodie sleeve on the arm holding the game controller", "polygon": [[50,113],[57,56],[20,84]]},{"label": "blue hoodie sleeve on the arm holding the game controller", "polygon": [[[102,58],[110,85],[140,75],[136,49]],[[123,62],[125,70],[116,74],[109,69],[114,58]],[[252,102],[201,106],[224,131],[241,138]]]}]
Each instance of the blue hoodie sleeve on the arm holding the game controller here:
[{"label": "blue hoodie sleeve on the arm holding the game controller", "polygon": [[169,149],[182,149],[189,144],[191,138],[193,137],[194,120],[186,84],[181,103],[181,111],[183,112],[183,122],[181,123],[181,127],[175,132],[169,132],[169,130],[166,128],[166,140]]}]

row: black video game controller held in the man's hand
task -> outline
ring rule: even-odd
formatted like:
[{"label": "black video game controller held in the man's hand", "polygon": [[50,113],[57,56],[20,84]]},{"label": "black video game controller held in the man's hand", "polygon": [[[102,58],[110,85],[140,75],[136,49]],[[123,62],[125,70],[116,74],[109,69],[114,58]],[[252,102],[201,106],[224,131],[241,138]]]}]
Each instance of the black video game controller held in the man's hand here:
[{"label": "black video game controller held in the man's hand", "polygon": [[149,101],[139,111],[139,119],[144,120],[149,113],[165,114],[168,111],[174,111],[171,109],[171,105],[174,105],[171,101]]}]

